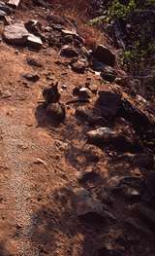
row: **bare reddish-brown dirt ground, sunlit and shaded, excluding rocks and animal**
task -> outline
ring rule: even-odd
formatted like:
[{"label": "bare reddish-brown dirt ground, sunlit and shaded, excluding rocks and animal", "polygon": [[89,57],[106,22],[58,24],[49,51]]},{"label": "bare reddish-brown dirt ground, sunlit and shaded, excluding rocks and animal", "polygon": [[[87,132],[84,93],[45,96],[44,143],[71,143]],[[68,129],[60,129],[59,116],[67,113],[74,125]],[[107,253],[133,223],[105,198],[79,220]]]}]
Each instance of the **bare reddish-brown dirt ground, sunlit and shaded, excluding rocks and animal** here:
[{"label": "bare reddish-brown dirt ground, sunlit and shaded, excluding rocks and animal", "polygon": [[[44,24],[42,12],[37,7],[31,12],[19,9],[15,17],[39,18]],[[30,56],[43,66],[28,65]],[[68,106],[65,122],[57,126],[40,103],[43,89],[52,80],[59,81],[62,102],[71,100],[73,89],[87,78],[99,91],[110,85],[90,70],[77,74],[57,60],[64,59],[53,48],[36,53],[0,44],[0,255],[153,256],[153,231],[141,221],[138,230],[125,223],[129,217],[139,219],[134,208],[140,201],[129,203],[119,194],[108,193],[117,179],[141,178],[145,170],[131,164],[132,153],[117,154],[87,144],[85,132],[90,127],[75,118],[79,104]],[[27,82],[25,73],[37,73],[40,79]],[[62,90],[63,85],[67,89]],[[118,120],[115,128],[119,125]],[[85,170],[97,171],[97,179],[79,183]],[[80,194],[83,188],[104,201],[111,213],[104,221],[97,217],[95,223],[88,216],[85,224],[78,218],[76,191]],[[110,252],[104,251],[106,245]]]}]

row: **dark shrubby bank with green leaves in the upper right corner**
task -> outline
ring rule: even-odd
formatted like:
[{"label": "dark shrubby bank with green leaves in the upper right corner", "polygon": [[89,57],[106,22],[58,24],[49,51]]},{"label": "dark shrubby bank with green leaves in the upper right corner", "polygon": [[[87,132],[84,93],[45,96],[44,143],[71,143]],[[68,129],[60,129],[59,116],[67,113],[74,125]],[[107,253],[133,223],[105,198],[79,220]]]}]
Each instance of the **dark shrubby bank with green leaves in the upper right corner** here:
[{"label": "dark shrubby bank with green leaves in the upper right corner", "polygon": [[116,47],[122,68],[128,71],[128,93],[154,102],[154,0],[91,1],[92,24],[97,24]]}]

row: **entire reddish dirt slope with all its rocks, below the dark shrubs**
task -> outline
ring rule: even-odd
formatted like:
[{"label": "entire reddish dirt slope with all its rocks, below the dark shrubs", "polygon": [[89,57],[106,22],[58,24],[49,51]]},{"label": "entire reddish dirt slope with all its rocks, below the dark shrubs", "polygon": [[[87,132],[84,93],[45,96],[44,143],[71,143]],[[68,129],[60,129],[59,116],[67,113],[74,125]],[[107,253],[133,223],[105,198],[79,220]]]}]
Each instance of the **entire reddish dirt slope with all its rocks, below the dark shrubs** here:
[{"label": "entire reddish dirt slope with all its rocks, below the dark shrubs", "polygon": [[0,3],[0,255],[153,256],[151,104],[127,93],[105,35],[90,50],[54,5],[12,8]]}]

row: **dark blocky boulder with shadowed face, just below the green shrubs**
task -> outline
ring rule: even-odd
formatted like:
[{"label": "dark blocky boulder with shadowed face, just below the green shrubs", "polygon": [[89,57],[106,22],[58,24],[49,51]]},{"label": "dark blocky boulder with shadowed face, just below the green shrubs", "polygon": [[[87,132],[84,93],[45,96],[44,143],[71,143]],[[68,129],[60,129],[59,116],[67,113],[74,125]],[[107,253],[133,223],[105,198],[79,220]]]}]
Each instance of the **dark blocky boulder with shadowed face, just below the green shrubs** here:
[{"label": "dark blocky boulder with shadowed face, just below the green shrubs", "polygon": [[94,56],[101,62],[114,66],[115,64],[115,55],[105,46],[98,45],[94,52]]}]

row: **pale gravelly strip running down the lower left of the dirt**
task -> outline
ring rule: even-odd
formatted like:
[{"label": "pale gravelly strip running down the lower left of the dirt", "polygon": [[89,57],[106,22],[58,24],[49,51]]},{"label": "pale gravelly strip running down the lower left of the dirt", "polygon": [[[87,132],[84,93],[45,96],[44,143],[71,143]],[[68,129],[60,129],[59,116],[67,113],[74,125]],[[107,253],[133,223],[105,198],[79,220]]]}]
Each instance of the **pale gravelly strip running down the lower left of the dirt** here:
[{"label": "pale gravelly strip running down the lower left of the dirt", "polygon": [[[21,110],[19,114],[22,115]],[[31,198],[31,187],[28,182],[28,162],[24,151],[30,142],[25,139],[26,127],[22,124],[12,124],[12,118],[6,113],[1,113],[0,129],[3,140],[4,161],[9,168],[9,179],[1,187],[5,191],[5,210],[11,211],[14,218],[12,225],[21,229],[21,234],[16,244],[16,255],[39,255],[31,244],[31,215],[32,209],[28,199]],[[7,198],[8,197],[8,198]]]}]

